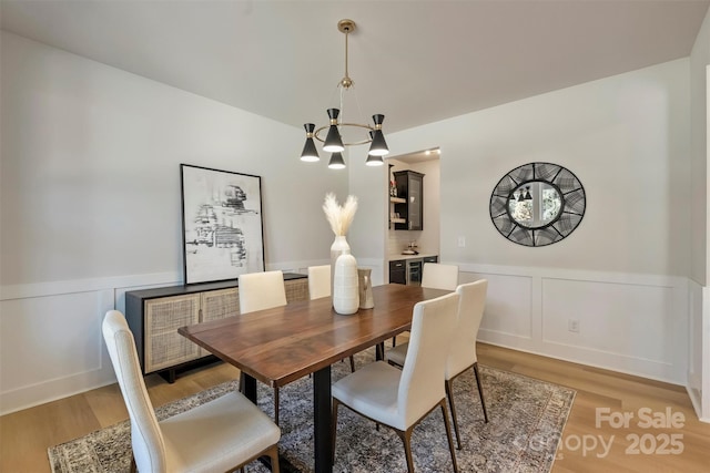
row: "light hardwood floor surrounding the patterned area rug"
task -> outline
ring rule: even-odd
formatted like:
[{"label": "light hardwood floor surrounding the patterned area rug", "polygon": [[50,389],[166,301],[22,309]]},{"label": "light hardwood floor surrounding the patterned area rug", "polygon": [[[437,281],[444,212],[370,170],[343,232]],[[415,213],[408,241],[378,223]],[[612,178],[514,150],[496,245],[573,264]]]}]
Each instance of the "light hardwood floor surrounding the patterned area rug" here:
[{"label": "light hardwood floor surrounding the patterned area rug", "polygon": [[[682,387],[485,343],[478,357],[481,364],[577,391],[555,473],[710,471],[710,424],[698,421]],[[158,376],[148,377],[146,384],[153,405],[161,405],[237,376],[235,368],[217,363],[185,373],[174,384]],[[457,405],[465,409],[463,402]],[[597,409],[607,409],[606,417]],[[616,423],[622,424],[623,417],[628,426]],[[118,384],[3,415],[0,472],[50,472],[49,446],[126,418]]]}]

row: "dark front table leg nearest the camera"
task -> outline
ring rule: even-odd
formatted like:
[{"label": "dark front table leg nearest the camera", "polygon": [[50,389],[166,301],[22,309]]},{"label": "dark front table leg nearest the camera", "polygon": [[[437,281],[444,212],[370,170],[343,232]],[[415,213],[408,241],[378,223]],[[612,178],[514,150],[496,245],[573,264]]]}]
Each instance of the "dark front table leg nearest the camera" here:
[{"label": "dark front table leg nearest the camera", "polygon": [[314,459],[315,473],[333,471],[331,438],[331,367],[313,373],[313,423],[314,423]]}]

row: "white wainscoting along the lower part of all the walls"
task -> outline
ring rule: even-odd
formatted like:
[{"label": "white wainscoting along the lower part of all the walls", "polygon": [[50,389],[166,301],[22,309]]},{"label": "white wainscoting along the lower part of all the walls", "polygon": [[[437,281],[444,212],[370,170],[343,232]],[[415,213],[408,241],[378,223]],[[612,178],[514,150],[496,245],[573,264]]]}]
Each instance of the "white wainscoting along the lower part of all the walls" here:
[{"label": "white wainscoting along the lower part of all the walls", "polygon": [[[301,271],[317,264],[324,263],[288,261],[267,269]],[[381,278],[374,282],[383,282],[384,261],[363,258],[358,266],[373,268],[373,279]],[[489,281],[480,341],[687,384],[687,279],[470,264],[459,268],[460,282]],[[101,337],[103,315],[124,310],[126,290],[180,279],[164,273],[1,287],[0,414],[114,382]],[[579,333],[568,331],[570,315],[579,318]]]}]

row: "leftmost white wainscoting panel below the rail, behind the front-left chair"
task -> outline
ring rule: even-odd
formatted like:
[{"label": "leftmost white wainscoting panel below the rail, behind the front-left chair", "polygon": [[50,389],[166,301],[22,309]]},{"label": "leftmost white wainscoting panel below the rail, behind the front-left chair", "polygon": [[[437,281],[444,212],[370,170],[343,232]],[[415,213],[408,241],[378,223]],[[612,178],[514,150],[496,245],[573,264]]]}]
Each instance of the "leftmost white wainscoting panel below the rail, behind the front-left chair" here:
[{"label": "leftmost white wainscoting panel below the rail, behind the front-left chair", "polygon": [[0,301],[1,412],[111,382],[101,321],[113,301],[112,290]]}]

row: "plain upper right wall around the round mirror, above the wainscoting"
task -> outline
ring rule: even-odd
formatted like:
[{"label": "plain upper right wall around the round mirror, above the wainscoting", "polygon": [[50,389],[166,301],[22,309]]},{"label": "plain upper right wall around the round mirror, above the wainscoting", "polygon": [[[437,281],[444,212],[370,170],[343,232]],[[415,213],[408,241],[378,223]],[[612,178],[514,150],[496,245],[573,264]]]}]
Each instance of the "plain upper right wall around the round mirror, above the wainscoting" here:
[{"label": "plain upper right wall around the round mirror, above the wainscoting", "polygon": [[[446,157],[444,257],[688,275],[688,235],[680,230],[689,226],[688,80],[688,61],[679,60],[427,126]],[[420,134],[413,130],[397,140]],[[508,171],[535,161],[572,171],[588,202],[572,237],[531,249],[498,234],[489,199]],[[465,248],[456,246],[458,235]]]}]

